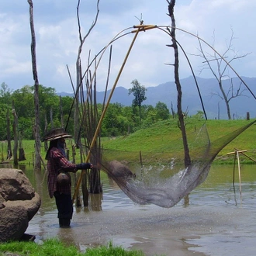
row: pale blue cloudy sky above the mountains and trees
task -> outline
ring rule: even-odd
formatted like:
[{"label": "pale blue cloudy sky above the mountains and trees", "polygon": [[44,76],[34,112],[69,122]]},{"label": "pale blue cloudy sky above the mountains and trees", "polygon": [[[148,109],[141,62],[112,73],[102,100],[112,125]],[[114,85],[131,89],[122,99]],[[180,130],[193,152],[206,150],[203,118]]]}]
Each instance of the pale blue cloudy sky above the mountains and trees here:
[{"label": "pale blue cloudy sky above the mountains and trees", "polygon": [[[34,26],[36,30],[36,58],[38,78],[45,87],[56,88],[56,92],[72,92],[71,78],[75,84],[75,63],[78,57],[79,37],[76,0],[33,0]],[[82,36],[95,19],[96,0],[81,0],[80,19]],[[256,76],[256,23],[254,0],[177,0],[175,5],[176,26],[189,33],[177,31],[177,40],[189,54],[196,75],[202,78],[213,77],[202,70],[202,58],[199,54],[199,35],[207,43],[223,54],[227,50],[232,31],[234,40],[232,49],[235,54],[247,57],[234,61],[232,66],[241,76]],[[85,40],[82,48],[82,69],[91,59],[99,54],[111,40],[121,33],[122,36],[112,43],[112,66],[110,86],[116,80],[123,58],[133,40],[131,32],[140,19],[144,24],[169,26],[166,0],[100,0],[99,19],[92,33]],[[122,33],[122,31],[124,32]],[[214,34],[214,36],[213,36]],[[213,40],[214,39],[214,40]],[[0,83],[16,90],[24,85],[33,85],[31,64],[31,33],[29,27],[29,4],[26,0],[1,2],[0,9]],[[146,87],[157,86],[174,80],[173,50],[166,47],[170,37],[160,29],[150,29],[139,33],[130,53],[117,86],[131,88],[131,81],[137,79]],[[206,46],[205,46],[206,47]],[[209,47],[207,54],[213,54]],[[100,55],[99,55],[100,56]],[[180,78],[192,75],[189,65],[180,50]],[[234,57],[227,56],[227,60]],[[108,71],[109,48],[102,55],[97,69],[97,90],[103,91]],[[99,60],[99,57],[98,57]],[[230,71],[230,76],[234,73]]]}]

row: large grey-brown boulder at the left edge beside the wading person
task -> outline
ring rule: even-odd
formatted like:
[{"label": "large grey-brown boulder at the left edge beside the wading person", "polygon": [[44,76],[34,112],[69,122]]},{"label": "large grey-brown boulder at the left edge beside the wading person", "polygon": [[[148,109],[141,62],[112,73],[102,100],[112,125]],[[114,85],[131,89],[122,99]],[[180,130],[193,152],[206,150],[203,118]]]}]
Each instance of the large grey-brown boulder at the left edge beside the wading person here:
[{"label": "large grey-brown boulder at the left edge beside the wading person", "polygon": [[0,168],[0,242],[21,239],[40,205],[40,195],[21,170]]}]

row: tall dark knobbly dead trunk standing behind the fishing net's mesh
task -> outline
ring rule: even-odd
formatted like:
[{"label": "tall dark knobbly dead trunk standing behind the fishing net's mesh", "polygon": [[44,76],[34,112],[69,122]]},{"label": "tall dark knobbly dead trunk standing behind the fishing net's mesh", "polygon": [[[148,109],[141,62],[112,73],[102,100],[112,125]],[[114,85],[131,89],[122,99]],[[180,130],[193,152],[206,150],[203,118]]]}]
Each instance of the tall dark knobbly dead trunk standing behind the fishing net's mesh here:
[{"label": "tall dark knobbly dead trunk standing behind the fishing net's mesh", "polygon": [[184,122],[184,115],[182,111],[182,85],[180,83],[179,79],[179,60],[178,60],[178,44],[176,42],[176,34],[175,34],[175,15],[174,15],[174,8],[175,8],[175,0],[168,1],[168,15],[171,18],[171,45],[168,45],[168,47],[173,47],[175,51],[175,64],[173,66],[175,67],[175,85],[178,92],[178,99],[177,99],[177,111],[178,111],[178,126],[182,130],[182,141],[183,141],[183,147],[184,147],[184,164],[185,167],[188,167],[191,165],[191,158],[189,154],[189,146],[188,146],[188,140],[185,130],[185,122]]}]

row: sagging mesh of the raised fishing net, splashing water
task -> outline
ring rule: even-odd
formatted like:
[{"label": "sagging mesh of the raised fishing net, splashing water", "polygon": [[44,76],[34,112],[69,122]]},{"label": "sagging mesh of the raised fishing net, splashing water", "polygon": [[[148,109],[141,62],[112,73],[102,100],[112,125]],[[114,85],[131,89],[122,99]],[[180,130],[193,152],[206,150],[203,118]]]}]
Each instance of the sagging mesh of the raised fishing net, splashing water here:
[{"label": "sagging mesh of the raised fishing net, splashing water", "polygon": [[[188,168],[184,168],[182,156],[178,155],[182,151],[182,139],[177,138],[170,139],[169,147],[165,146],[157,153],[149,150],[108,150],[103,145],[102,170],[133,202],[140,205],[151,203],[161,207],[175,206],[206,180],[209,168],[220,150],[253,123],[255,121],[213,142],[209,140],[206,124],[198,131],[189,131],[192,164]],[[137,141],[138,145],[143,143],[147,143],[147,138],[144,142]],[[166,144],[168,141],[162,145]]]}]

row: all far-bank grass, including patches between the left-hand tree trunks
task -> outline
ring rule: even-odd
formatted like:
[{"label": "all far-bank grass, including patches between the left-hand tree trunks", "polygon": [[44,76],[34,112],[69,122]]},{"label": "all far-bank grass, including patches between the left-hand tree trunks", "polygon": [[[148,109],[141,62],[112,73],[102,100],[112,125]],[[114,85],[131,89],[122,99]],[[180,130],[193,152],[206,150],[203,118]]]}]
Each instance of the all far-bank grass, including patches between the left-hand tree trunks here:
[{"label": "all far-bank grass, including patches between the left-hand tree trunks", "polygon": [[[242,126],[247,125],[251,121],[241,120],[203,120],[189,118],[185,119],[186,133],[189,140],[190,153],[199,154],[195,148],[195,138],[199,133],[202,125],[206,123],[209,139],[216,143],[222,140],[225,135],[234,132]],[[254,143],[254,134],[256,126],[253,124],[250,128],[241,133],[230,144],[227,144],[223,150],[217,155],[214,163],[216,164],[233,164],[234,155],[227,155],[229,152],[234,152],[234,148],[238,150],[247,150],[248,154],[253,159],[256,159],[256,147]],[[206,133],[205,133],[206,134]],[[5,145],[4,145],[5,144]],[[114,140],[102,138],[102,145],[107,149],[105,154],[108,159],[121,160],[126,158],[129,161],[137,161],[139,152],[142,152],[144,159],[155,161],[162,159],[170,161],[170,157],[183,158],[183,144],[181,130],[178,128],[177,119],[168,119],[166,121],[155,123],[147,129],[138,130],[122,137],[116,137]],[[43,146],[43,144],[42,144]],[[2,152],[6,152],[6,142],[2,143]],[[33,164],[34,141],[23,140],[22,147],[25,150],[26,161],[21,161],[20,164]],[[71,149],[71,140],[67,140],[67,148]],[[2,153],[3,154],[3,153]],[[41,155],[44,159],[46,152],[41,147]],[[71,153],[70,153],[71,154]],[[247,157],[241,156],[241,161],[244,163],[252,163]],[[80,162],[79,150],[76,152],[76,162]]]}]

